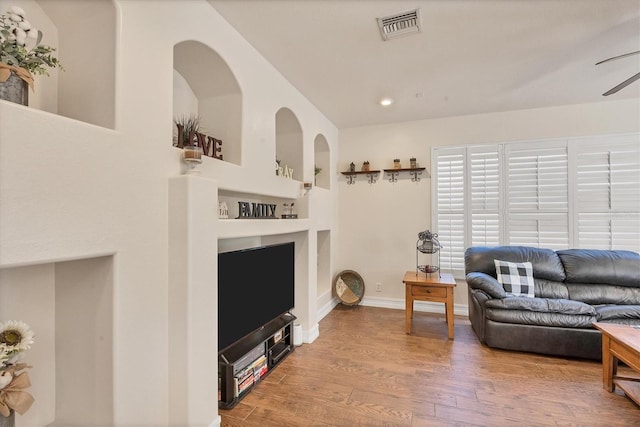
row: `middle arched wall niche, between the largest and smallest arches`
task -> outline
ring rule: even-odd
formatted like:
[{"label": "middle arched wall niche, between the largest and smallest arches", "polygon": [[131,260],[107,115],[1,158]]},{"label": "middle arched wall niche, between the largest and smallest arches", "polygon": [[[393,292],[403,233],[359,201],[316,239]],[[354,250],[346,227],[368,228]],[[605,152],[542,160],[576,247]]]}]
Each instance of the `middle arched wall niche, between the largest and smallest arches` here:
[{"label": "middle arched wall niche, between the largest and smallest arches", "polygon": [[302,127],[293,111],[283,107],[276,113],[276,162],[286,170],[293,170],[291,178],[302,181]]}]

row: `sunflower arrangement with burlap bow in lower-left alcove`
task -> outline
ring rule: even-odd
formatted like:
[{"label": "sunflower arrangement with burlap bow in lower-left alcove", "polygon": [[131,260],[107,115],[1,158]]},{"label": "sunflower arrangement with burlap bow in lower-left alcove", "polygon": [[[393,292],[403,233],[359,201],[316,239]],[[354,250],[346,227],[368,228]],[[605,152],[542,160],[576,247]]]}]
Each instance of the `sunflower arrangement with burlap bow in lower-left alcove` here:
[{"label": "sunflower arrangement with burlap bow in lower-left alcove", "polygon": [[33,331],[26,323],[19,320],[0,323],[0,418],[8,421],[5,424],[13,425],[14,412],[22,415],[33,403],[33,397],[26,391],[31,386],[26,369],[31,366],[20,362],[33,342]]}]

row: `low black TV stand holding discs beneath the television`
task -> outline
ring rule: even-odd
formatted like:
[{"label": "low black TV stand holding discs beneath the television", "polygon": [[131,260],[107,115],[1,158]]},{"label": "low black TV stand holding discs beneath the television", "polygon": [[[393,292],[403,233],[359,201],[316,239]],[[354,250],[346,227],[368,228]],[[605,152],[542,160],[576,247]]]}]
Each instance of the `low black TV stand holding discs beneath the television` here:
[{"label": "low black TV stand holding discs beneath the television", "polygon": [[233,408],[293,352],[294,320],[285,313],[218,353],[219,408]]}]

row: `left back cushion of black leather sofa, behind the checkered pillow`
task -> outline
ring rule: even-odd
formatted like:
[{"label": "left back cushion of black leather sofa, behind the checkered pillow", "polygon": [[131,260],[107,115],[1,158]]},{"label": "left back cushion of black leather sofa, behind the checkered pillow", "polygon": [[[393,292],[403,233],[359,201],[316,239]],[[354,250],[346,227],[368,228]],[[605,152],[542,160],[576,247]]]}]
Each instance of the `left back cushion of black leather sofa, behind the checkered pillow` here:
[{"label": "left back cushion of black leather sofa, behind the checkered pillow", "polygon": [[528,246],[473,246],[464,254],[465,272],[479,271],[496,277],[494,260],[511,262],[530,262],[533,264],[533,277],[536,279],[563,282],[564,267],[560,258],[551,249]]}]

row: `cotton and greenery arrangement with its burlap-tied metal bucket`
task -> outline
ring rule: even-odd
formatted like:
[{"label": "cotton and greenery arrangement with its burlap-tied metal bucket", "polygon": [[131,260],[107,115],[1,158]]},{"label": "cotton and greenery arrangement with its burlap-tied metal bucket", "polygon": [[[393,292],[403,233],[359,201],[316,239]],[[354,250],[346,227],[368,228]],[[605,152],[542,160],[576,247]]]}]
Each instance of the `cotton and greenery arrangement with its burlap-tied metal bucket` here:
[{"label": "cotton and greenery arrangement with its burlap-tied metal bucket", "polygon": [[41,41],[42,31],[31,25],[21,8],[12,6],[0,15],[0,99],[26,105],[26,99],[10,97],[10,84],[11,88],[21,85],[26,97],[26,85],[33,90],[34,74],[48,76],[48,68],[63,69],[53,56],[56,49]]}]

